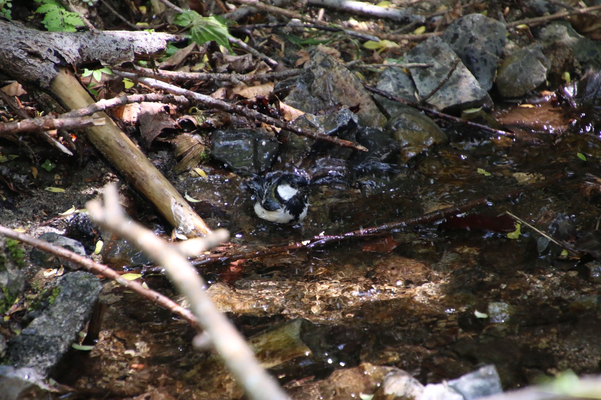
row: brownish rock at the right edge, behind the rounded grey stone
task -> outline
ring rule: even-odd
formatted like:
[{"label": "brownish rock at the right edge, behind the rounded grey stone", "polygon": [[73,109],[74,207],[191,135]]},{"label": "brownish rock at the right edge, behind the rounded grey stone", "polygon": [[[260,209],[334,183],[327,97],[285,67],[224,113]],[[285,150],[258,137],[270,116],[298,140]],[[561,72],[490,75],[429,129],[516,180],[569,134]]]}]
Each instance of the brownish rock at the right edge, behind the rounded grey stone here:
[{"label": "brownish rock at the right edge, behind the rounded grey stone", "polygon": [[563,45],[571,50],[577,70],[601,69],[601,43],[578,34],[569,22],[550,23],[540,29],[537,37],[545,46],[545,54],[554,53],[555,48]]}]

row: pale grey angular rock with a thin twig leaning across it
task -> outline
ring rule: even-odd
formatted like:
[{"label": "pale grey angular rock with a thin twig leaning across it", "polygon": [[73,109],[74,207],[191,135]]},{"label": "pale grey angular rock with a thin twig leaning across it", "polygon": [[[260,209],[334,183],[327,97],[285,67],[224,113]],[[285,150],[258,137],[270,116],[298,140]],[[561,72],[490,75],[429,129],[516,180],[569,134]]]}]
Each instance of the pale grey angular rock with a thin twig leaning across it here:
[{"label": "pale grey angular rock with a thin twig leaning across it", "polygon": [[[457,60],[453,49],[439,37],[430,37],[407,52],[406,62],[429,62],[431,68],[410,68],[411,77],[420,97],[432,93],[447,77]],[[480,86],[462,62],[457,64],[450,79],[427,102],[439,110],[492,107],[486,90]]]}]

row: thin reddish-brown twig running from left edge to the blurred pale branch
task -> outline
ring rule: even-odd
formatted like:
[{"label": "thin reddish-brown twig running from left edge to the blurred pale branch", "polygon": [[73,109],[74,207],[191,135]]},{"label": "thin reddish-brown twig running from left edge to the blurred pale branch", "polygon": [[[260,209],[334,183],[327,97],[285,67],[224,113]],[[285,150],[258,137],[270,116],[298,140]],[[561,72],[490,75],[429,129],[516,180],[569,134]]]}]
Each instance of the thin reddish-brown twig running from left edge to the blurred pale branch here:
[{"label": "thin reddish-brown twig running from left edge to the blurred pale branch", "polygon": [[73,263],[79,264],[90,272],[96,273],[97,275],[102,275],[105,278],[112,279],[118,282],[118,284],[121,286],[135,291],[141,297],[150,300],[156,305],[170,311],[172,314],[175,314],[178,317],[188,321],[192,327],[194,327],[194,329],[200,330],[197,318],[189,309],[183,308],[173,300],[169,299],[167,296],[163,296],[154,290],[144,288],[138,281],[128,281],[127,279],[121,278],[121,275],[119,275],[117,271],[111,269],[109,266],[96,263],[90,260],[90,258],[79,255],[66,248],[53,245],[52,243],[45,242],[44,240],[36,239],[35,237],[28,236],[24,233],[16,232],[11,228],[7,228],[2,225],[0,225],[0,234],[10,237],[11,239],[20,240],[20,242],[27,243],[28,245],[41,251],[45,251],[49,254],[56,255],[56,257],[61,257],[67,261],[72,261]]}]

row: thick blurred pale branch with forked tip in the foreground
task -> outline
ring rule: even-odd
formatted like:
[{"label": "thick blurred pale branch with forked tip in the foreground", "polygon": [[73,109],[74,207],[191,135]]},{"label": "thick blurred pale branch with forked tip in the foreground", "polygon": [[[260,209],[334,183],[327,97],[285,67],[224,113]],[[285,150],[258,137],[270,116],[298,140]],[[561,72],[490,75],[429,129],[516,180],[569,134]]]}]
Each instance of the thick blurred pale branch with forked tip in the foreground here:
[{"label": "thick blurred pale branch with forked tip in the foreground", "polygon": [[[104,207],[99,201],[86,206],[91,218],[101,227],[112,231],[144,251],[148,257],[165,267],[172,284],[187,297],[198,323],[209,335],[225,365],[242,386],[249,398],[255,400],[285,400],[288,396],[275,379],[267,374],[254,357],[242,335],[211,302],[204,282],[195,269],[177,249],[170,247],[152,231],[126,217],[119,204],[117,187],[105,188]],[[227,237],[227,231],[218,230],[207,236],[207,244],[215,245]]]}]

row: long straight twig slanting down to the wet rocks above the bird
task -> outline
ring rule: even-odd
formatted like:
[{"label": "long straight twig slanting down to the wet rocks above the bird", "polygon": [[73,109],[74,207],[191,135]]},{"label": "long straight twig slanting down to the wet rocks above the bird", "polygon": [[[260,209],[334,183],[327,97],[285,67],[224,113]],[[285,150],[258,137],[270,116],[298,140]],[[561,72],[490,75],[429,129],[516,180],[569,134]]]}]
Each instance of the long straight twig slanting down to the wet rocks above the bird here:
[{"label": "long straight twig slanting down to the wet rocks above the bird", "polygon": [[236,104],[225,103],[225,101],[217,100],[207,95],[203,95],[200,93],[192,92],[186,89],[178,88],[174,85],[169,85],[169,83],[162,82],[160,80],[139,77],[136,74],[126,73],[121,71],[114,71],[118,76],[125,77],[131,80],[138,80],[138,82],[143,83],[144,85],[150,86],[154,89],[160,89],[167,91],[172,94],[183,95],[192,100],[198,101],[200,103],[207,104],[208,106],[215,107],[216,109],[224,110],[230,113],[236,113],[245,116],[251,120],[261,121],[269,125],[273,125],[274,127],[278,127],[283,130],[287,130],[293,133],[296,133],[301,136],[306,136],[314,140],[321,140],[322,142],[332,143],[332,145],[337,145],[341,147],[347,147],[359,151],[367,151],[367,148],[359,145],[355,142],[349,142],[349,140],[338,139],[337,137],[328,136],[325,134],[313,132],[304,128],[299,128],[294,125],[288,124],[287,122],[279,121],[278,119],[268,117],[264,114],[261,114],[255,110],[248,109],[246,107],[237,106]]}]

